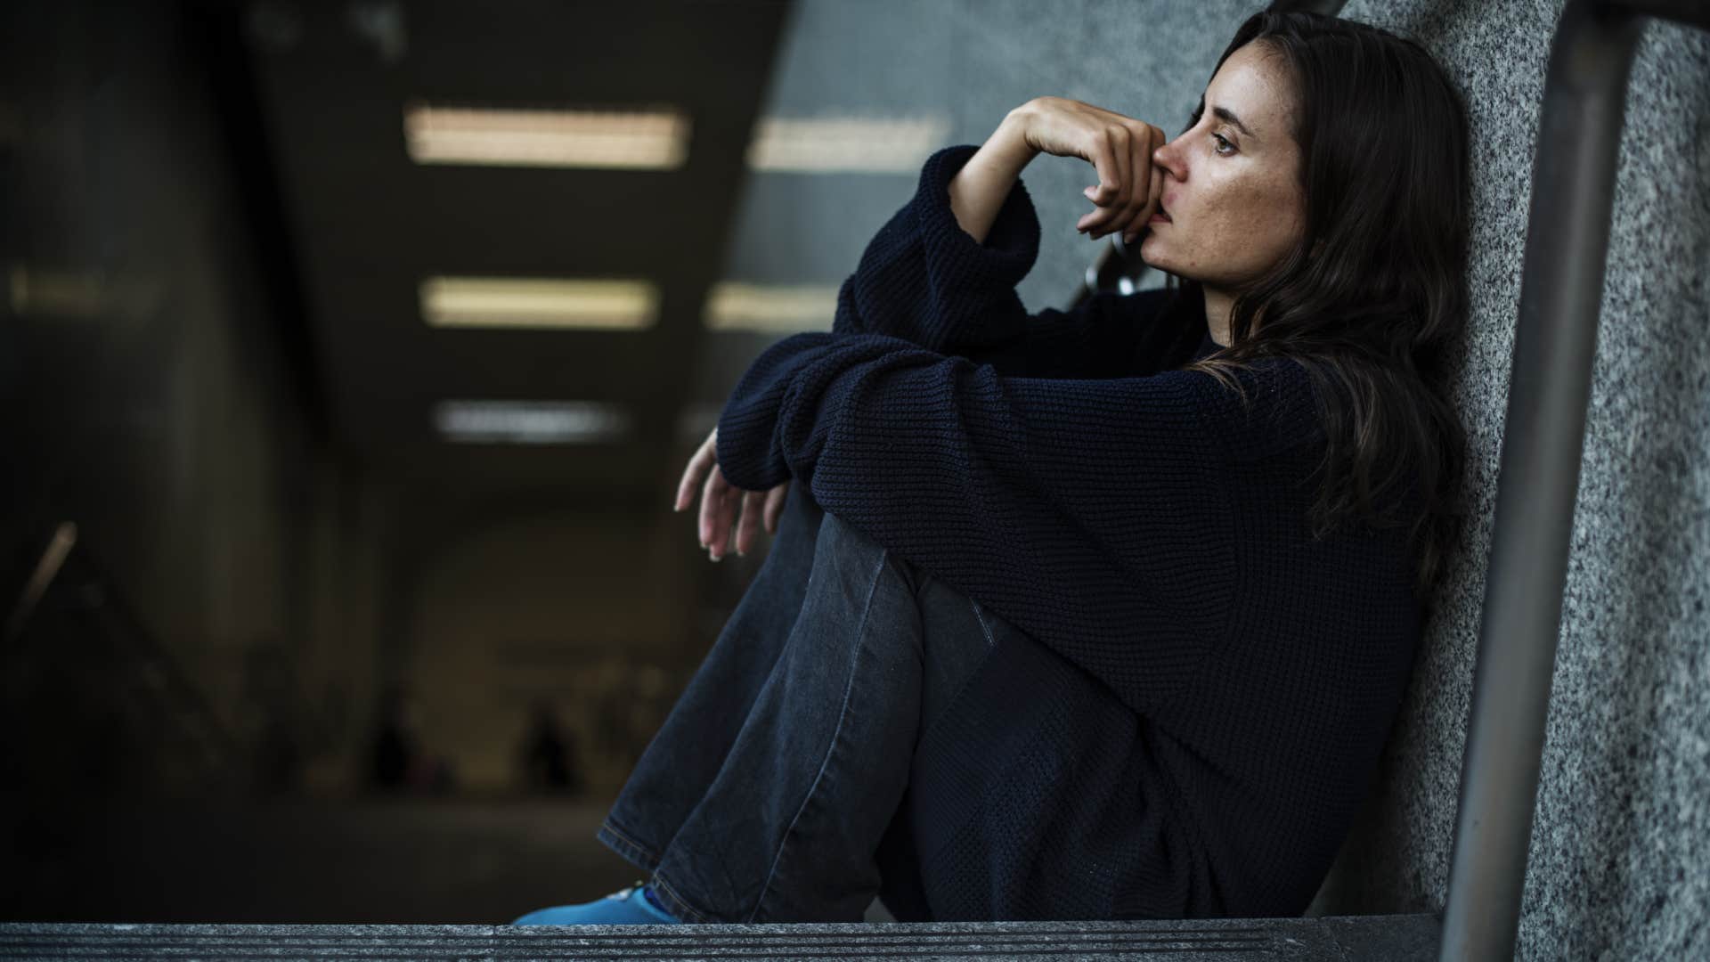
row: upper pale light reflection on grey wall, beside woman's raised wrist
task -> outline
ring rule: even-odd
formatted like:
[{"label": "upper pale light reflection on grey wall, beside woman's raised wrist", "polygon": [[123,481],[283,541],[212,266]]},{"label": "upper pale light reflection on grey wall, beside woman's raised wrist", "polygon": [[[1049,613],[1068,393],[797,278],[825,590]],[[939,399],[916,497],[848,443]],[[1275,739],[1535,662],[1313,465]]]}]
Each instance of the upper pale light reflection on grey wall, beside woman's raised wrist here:
[{"label": "upper pale light reflection on grey wall, beside woman's raised wrist", "polygon": [[915,173],[944,145],[944,118],[763,118],[749,144],[756,171]]}]

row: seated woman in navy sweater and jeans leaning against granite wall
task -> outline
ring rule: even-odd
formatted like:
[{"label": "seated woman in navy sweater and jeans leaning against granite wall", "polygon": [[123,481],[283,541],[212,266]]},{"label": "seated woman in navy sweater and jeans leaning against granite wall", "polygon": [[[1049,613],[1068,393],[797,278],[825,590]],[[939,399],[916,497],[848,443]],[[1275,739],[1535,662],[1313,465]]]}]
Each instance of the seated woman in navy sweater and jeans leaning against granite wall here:
[{"label": "seated woman in navy sweater and jeans leaning against granite wall", "polygon": [[[1180,284],[1028,317],[1040,152]],[[1465,190],[1442,68],[1313,14],[1175,140],[1041,98],[929,159],[684,476],[715,560],[778,536],[600,828],[652,882],[518,923],[1305,911],[1459,524]]]}]

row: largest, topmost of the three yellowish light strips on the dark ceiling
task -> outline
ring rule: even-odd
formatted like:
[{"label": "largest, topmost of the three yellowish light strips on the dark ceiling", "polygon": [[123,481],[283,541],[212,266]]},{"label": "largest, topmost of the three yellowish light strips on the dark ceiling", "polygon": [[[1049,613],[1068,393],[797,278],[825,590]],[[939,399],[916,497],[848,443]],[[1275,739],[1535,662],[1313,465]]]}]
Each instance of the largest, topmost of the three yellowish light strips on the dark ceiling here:
[{"label": "largest, topmost of the three yellowish light strips on the dark ceiling", "polygon": [[404,142],[417,164],[675,169],[689,116],[650,111],[487,110],[409,104]]}]

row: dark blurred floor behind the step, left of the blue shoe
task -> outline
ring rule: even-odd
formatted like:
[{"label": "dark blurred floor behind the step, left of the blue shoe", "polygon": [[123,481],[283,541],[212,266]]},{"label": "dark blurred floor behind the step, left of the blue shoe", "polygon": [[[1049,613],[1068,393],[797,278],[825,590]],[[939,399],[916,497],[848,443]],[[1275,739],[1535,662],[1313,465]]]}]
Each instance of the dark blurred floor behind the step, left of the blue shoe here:
[{"label": "dark blurred floor behind the step, left of the blue shoe", "polygon": [[[115,803],[10,878],[12,921],[508,923],[645,873],[593,839],[607,803]],[[36,859],[31,859],[36,861]]]}]

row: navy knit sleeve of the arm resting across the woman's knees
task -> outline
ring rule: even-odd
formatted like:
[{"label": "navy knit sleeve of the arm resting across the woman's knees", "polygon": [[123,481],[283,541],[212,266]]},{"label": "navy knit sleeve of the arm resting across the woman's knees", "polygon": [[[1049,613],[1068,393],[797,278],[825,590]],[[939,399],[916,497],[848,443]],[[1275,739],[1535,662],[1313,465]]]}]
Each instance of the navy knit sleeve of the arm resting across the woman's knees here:
[{"label": "navy knit sleeve of the arm resting across the woman's knees", "polygon": [[1182,688],[1229,609],[1223,390],[1197,371],[1005,377],[882,334],[797,334],[742,377],[716,454],[739,488],[797,478],[1144,709]]}]

